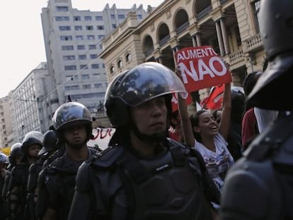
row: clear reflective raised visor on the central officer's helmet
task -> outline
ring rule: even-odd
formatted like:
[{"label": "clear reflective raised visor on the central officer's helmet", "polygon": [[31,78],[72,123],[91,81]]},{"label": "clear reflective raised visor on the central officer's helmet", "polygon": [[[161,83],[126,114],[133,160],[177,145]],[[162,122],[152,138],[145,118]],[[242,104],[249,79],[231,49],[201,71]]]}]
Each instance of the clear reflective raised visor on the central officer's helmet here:
[{"label": "clear reflective raised visor on the central officer's helmet", "polygon": [[140,64],[127,72],[118,88],[116,94],[110,95],[132,107],[169,93],[180,93],[183,98],[188,95],[178,76],[156,62]]}]

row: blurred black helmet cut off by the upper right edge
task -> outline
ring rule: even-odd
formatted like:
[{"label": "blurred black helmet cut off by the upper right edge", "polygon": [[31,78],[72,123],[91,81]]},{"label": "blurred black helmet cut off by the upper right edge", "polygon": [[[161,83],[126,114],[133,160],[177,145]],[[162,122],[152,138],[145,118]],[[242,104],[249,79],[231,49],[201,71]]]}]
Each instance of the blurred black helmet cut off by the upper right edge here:
[{"label": "blurred black helmet cut off by the upper right edge", "polygon": [[292,93],[293,1],[260,1],[259,23],[269,63],[248,95],[248,102],[264,109],[292,110],[287,95]]}]

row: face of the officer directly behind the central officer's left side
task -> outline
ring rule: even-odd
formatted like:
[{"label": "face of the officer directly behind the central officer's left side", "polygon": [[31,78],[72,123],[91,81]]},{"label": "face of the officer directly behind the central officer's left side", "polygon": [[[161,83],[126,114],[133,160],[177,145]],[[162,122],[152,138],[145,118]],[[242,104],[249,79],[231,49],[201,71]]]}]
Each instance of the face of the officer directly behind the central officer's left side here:
[{"label": "face of the officer directly behind the central officer's left side", "polygon": [[64,129],[64,138],[70,146],[83,146],[86,143],[86,126],[72,125]]}]

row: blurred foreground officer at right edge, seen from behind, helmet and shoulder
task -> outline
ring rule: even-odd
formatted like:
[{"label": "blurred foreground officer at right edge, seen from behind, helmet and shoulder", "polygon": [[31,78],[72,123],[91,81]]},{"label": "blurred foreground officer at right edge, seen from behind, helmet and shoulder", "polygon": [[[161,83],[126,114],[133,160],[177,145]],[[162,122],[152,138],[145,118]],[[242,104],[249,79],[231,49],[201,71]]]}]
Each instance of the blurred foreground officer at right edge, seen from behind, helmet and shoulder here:
[{"label": "blurred foreground officer at right edge, seen from behind, helmet and shoulder", "polygon": [[[259,21],[269,63],[248,102],[293,110],[293,1],[262,0]],[[292,134],[293,117],[279,118],[251,143],[226,177],[222,219],[293,219]]]}]

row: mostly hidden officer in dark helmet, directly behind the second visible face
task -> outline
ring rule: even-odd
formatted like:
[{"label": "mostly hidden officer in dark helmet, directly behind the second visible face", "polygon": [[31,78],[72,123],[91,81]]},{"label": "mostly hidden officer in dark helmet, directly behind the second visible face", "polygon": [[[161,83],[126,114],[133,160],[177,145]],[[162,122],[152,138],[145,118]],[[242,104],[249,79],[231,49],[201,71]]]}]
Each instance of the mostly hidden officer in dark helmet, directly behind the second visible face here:
[{"label": "mostly hidden officer in dark helmet, directly behind the second visible face", "polygon": [[28,219],[37,219],[35,215],[35,203],[38,199],[38,176],[42,170],[43,163],[47,158],[54,153],[59,147],[56,144],[57,137],[54,131],[49,130],[44,134],[43,146],[40,149],[38,155],[40,158],[38,161],[35,161],[28,170],[28,196],[27,196],[27,205],[28,205]]}]

